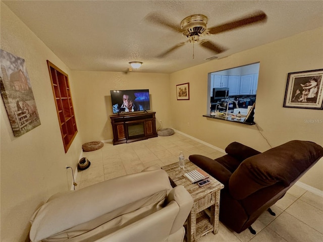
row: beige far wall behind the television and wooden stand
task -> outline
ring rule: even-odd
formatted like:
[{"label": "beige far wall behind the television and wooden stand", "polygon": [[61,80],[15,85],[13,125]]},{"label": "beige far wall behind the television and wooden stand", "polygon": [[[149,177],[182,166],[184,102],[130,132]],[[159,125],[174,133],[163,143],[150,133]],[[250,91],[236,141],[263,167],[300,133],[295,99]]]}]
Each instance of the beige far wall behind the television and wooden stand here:
[{"label": "beige far wall behind the television and wooden stand", "polygon": [[73,71],[75,95],[73,101],[78,114],[82,142],[113,139],[110,115],[110,90],[149,89],[150,108],[156,112],[156,127],[170,127],[170,75],[138,72]]}]

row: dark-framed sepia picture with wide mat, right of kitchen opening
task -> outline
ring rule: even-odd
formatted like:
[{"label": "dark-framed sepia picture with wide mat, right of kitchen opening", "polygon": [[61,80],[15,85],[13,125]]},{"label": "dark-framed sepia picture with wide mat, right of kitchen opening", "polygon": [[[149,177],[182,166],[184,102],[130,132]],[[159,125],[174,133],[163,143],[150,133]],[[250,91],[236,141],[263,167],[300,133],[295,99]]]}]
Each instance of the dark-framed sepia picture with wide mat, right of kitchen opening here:
[{"label": "dark-framed sepia picture with wide mat, right of kitchen opening", "polygon": [[323,69],[288,73],[284,107],[323,109]]}]

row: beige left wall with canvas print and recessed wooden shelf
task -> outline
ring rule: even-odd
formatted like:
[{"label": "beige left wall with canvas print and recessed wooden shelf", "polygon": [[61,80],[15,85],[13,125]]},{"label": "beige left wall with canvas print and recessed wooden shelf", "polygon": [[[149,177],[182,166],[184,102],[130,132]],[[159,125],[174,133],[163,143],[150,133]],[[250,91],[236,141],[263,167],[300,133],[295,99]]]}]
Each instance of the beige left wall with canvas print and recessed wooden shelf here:
[{"label": "beige left wall with canvas print and recessed wooden shelf", "polygon": [[[65,166],[75,170],[81,152],[81,132],[65,154],[46,59],[67,74],[70,70],[3,3],[0,47],[25,59],[41,122],[40,126],[15,138],[0,98],[0,240],[25,241],[33,212],[52,194],[70,189],[71,169],[66,170]],[[73,80],[70,83],[73,97]]]}]

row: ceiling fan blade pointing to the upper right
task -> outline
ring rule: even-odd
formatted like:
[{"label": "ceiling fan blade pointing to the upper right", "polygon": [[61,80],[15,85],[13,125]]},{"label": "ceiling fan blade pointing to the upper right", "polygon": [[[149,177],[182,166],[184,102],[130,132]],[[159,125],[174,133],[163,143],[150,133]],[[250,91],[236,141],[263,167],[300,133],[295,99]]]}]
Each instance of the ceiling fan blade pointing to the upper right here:
[{"label": "ceiling fan blade pointing to the upper right", "polygon": [[229,23],[209,28],[208,33],[218,34],[232,29],[240,28],[243,26],[266,22],[266,21],[267,21],[267,15],[262,11],[258,11],[248,16],[245,16],[243,18],[239,18],[234,21],[231,21]]}]

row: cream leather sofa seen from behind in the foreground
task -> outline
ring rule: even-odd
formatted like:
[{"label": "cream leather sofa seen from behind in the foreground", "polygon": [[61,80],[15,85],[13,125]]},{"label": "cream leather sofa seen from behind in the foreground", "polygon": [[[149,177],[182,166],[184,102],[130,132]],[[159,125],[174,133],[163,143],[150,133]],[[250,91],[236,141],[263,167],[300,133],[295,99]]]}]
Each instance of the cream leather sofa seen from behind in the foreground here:
[{"label": "cream leather sofa seen from behind in the foreground", "polygon": [[32,216],[32,242],[183,241],[193,206],[162,169],[52,196]]}]

